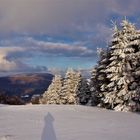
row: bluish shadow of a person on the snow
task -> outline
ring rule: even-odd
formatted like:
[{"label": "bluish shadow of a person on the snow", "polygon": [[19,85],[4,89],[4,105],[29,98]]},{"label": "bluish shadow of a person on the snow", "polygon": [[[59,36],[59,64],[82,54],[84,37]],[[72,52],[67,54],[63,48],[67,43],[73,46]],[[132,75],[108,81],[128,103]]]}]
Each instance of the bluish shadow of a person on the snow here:
[{"label": "bluish shadow of a person on the snow", "polygon": [[48,112],[47,116],[44,118],[44,129],[41,140],[57,140],[53,122],[54,117]]}]

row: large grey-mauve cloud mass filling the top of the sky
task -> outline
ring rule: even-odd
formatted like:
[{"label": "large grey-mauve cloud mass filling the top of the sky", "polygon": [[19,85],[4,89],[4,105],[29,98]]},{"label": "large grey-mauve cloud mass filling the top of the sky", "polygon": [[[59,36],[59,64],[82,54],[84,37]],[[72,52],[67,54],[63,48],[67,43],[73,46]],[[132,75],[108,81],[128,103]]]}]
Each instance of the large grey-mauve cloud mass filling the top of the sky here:
[{"label": "large grey-mauve cloud mass filling the top of the sky", "polygon": [[139,5],[139,0],[1,0],[0,31],[69,36],[94,32],[112,13],[133,15],[140,12]]}]

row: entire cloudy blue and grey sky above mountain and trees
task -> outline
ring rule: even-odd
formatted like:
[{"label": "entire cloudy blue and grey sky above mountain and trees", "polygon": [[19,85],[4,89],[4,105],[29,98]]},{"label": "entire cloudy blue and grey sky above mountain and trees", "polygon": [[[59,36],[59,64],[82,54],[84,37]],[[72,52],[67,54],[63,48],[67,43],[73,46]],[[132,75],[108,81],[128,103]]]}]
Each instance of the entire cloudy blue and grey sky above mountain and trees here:
[{"label": "entire cloudy blue and grey sky above mountain and trees", "polygon": [[140,26],[140,0],[0,0],[0,73],[89,69],[111,20]]}]

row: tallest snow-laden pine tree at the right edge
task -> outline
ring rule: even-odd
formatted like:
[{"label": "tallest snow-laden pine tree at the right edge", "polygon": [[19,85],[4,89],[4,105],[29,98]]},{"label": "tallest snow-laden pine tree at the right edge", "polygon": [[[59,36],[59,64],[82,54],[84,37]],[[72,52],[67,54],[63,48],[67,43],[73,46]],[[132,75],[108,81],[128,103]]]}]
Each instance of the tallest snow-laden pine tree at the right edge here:
[{"label": "tallest snow-laden pine tree at the right edge", "polygon": [[110,63],[105,73],[103,106],[117,111],[137,111],[140,106],[140,31],[126,20],[115,26],[109,46]]}]

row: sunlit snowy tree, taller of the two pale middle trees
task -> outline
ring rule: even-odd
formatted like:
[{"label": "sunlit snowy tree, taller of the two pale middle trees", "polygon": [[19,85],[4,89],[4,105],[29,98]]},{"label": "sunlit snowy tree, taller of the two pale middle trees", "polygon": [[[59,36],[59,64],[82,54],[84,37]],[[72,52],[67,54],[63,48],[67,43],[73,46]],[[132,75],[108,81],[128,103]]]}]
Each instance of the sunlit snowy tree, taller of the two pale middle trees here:
[{"label": "sunlit snowy tree, taller of the two pale middle trees", "polygon": [[80,74],[73,69],[68,69],[64,78],[63,88],[60,95],[62,104],[78,104],[77,88]]}]

